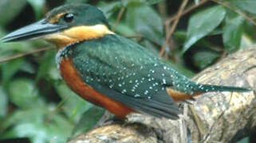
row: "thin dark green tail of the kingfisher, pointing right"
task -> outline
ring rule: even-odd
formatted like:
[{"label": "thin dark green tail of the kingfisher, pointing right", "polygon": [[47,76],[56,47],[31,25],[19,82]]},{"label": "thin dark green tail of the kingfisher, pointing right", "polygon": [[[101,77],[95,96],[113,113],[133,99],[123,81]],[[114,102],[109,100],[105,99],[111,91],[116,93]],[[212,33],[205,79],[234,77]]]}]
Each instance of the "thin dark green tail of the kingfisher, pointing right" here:
[{"label": "thin dark green tail of the kingfisher, pointing right", "polygon": [[226,87],[226,86],[216,86],[216,85],[209,85],[209,84],[198,84],[194,88],[195,91],[199,92],[211,92],[211,91],[236,91],[236,92],[246,92],[251,91],[249,88],[246,87]]}]

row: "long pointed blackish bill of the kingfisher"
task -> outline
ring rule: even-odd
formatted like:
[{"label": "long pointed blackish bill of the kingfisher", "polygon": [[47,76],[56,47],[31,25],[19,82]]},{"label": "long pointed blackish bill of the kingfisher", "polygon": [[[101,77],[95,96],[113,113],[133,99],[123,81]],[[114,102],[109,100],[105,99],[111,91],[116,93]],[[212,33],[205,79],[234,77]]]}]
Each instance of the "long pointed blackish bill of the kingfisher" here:
[{"label": "long pointed blackish bill of the kingfisher", "polygon": [[45,19],[41,21],[37,21],[31,25],[27,25],[21,29],[15,30],[12,33],[6,35],[6,37],[2,37],[1,41],[10,42],[10,41],[22,41],[28,40],[32,38],[42,37],[50,33],[56,33],[61,29],[65,29],[66,26],[51,24]]}]

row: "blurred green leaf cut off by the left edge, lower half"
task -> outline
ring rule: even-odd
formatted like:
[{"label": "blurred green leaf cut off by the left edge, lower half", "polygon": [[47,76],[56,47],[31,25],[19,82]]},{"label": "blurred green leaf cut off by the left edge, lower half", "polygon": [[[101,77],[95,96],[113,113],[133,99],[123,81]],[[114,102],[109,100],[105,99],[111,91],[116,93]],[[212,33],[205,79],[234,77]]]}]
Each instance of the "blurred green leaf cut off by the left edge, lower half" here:
[{"label": "blurred green leaf cut off by the left edge, lower half", "polygon": [[8,101],[7,101],[7,95],[6,91],[0,87],[0,118],[4,117],[7,113],[7,106],[8,106]]}]

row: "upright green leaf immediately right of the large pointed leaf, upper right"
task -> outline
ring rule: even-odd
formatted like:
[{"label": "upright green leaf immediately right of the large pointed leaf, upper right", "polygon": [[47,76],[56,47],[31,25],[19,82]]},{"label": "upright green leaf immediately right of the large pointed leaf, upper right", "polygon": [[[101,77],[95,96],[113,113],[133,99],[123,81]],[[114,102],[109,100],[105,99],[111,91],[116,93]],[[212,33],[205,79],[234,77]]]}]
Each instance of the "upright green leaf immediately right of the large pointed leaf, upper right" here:
[{"label": "upright green leaf immediately right of the large pointed leaf, upper right", "polygon": [[241,15],[229,11],[226,14],[226,21],[223,27],[223,43],[228,52],[234,52],[240,48],[243,32],[244,18]]}]

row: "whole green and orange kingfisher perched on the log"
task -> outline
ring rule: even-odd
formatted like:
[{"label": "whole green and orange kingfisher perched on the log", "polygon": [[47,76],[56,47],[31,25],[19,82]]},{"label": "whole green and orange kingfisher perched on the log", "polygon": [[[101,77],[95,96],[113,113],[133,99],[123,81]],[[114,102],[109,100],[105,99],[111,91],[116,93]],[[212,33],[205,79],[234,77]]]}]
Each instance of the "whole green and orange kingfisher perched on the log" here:
[{"label": "whole green and orange kingfisher perched on the log", "polygon": [[112,32],[104,13],[89,4],[68,4],[2,37],[3,42],[41,38],[56,45],[57,68],[75,92],[125,118],[130,113],[178,119],[178,101],[212,91],[250,91],[196,83],[142,45]]}]

